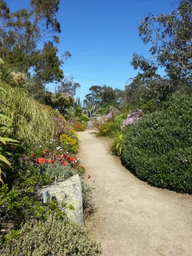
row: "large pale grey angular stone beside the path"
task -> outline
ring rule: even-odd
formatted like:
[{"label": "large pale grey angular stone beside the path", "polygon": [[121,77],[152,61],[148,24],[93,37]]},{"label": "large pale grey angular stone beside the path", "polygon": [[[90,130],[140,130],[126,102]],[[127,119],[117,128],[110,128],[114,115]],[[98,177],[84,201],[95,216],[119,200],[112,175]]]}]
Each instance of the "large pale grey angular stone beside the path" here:
[{"label": "large pale grey angular stone beside the path", "polygon": [[66,202],[67,204],[73,205],[74,210],[65,210],[68,218],[78,224],[84,225],[81,178],[78,174],[65,181],[42,188],[40,189],[40,193],[44,198],[44,202],[46,202],[47,198],[55,197],[60,204]]}]

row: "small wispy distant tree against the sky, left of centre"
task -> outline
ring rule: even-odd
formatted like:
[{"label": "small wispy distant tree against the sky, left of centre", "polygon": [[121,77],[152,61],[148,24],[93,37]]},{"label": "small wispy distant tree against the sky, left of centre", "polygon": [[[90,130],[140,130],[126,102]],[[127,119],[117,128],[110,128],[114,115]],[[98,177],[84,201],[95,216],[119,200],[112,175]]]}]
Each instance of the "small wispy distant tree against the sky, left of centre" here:
[{"label": "small wispy distant tree against the sky, left of centre", "polygon": [[68,93],[74,97],[78,88],[81,88],[81,85],[74,82],[74,77],[70,77],[70,79],[64,78],[60,85],[58,85],[58,88],[56,88],[56,92]]}]

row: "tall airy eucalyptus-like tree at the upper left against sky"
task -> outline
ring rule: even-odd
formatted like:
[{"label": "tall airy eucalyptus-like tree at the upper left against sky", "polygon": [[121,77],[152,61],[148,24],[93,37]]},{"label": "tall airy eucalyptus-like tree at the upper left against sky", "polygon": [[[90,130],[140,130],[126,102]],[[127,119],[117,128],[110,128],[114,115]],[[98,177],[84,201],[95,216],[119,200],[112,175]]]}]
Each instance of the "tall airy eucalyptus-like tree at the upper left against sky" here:
[{"label": "tall airy eucalyptus-like tree at the upper left against sky", "polygon": [[[28,9],[10,13],[6,2],[0,0],[0,57],[16,71],[32,71],[44,83],[63,79],[63,60],[58,58],[54,45],[59,43],[54,33],[61,32],[56,19],[59,4],[60,0],[31,0]],[[50,35],[52,40],[42,44],[43,38],[50,39]]]}]

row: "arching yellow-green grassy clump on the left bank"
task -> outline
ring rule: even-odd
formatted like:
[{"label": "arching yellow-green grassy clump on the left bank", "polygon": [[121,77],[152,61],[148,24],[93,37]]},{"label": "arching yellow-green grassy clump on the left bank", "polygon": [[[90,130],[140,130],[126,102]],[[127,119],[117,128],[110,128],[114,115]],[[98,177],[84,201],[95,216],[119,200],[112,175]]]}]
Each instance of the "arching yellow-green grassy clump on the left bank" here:
[{"label": "arching yellow-green grassy clump on the left bank", "polygon": [[36,102],[22,88],[12,88],[8,84],[2,87],[7,93],[1,95],[1,111],[7,113],[10,120],[4,124],[13,127],[14,135],[26,143],[50,140],[54,134],[54,122],[49,110]]}]

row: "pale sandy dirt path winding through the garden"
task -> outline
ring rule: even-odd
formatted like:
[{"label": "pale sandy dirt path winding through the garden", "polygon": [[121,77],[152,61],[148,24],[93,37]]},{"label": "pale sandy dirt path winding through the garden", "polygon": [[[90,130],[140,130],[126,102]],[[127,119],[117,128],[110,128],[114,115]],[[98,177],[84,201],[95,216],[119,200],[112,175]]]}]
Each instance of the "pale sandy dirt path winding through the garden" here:
[{"label": "pale sandy dirt path winding through the garden", "polygon": [[97,212],[88,229],[102,256],[192,256],[192,196],[153,188],[108,152],[110,140],[79,132],[79,157]]}]

